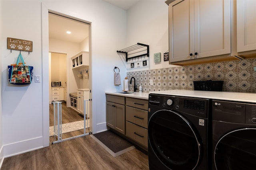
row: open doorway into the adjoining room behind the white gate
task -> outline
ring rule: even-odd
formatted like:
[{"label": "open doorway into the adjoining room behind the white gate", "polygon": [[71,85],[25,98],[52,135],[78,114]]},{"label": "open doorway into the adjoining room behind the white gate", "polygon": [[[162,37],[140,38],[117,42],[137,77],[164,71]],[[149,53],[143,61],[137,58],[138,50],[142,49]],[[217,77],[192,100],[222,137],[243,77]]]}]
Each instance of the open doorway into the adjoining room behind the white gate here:
[{"label": "open doorway into the adjoining room behind the white gate", "polygon": [[[81,80],[78,75],[79,73],[84,72],[84,67],[73,69],[73,63],[71,60],[74,55],[80,53],[81,51],[86,51],[88,54],[90,54],[90,23],[87,23],[86,21],[81,21],[77,18],[72,18],[70,16],[65,16],[63,14],[58,14],[57,12],[49,12],[48,25],[50,52],[49,69],[52,70],[49,70],[50,131],[53,122],[52,119],[54,117],[54,107],[52,106],[52,101],[55,101],[54,99],[57,99],[57,101],[62,102],[62,125],[65,124],[68,127],[73,127],[74,125],[77,125],[78,122],[84,121],[84,118],[88,118],[87,120],[89,120],[89,122],[87,121],[88,124],[86,127],[86,131],[91,132],[92,127],[88,127],[88,125],[91,124],[90,121],[92,121],[91,102],[87,102],[90,111],[87,110],[88,112],[86,112],[86,114],[81,114],[80,110],[77,110],[74,107],[74,101],[77,100],[75,99],[75,97],[77,96],[74,97],[74,95],[77,93],[77,90],[85,88],[91,89],[91,81],[86,84],[86,87],[81,84]],[[88,66],[86,66],[86,72],[88,73],[87,76],[90,78],[90,55],[88,55],[88,57],[89,64]],[[64,70],[66,70],[66,72]],[[54,75],[52,73],[54,73]],[[59,88],[52,87],[52,82],[56,81],[61,82]],[[54,91],[52,91],[55,88],[56,91],[58,91],[56,92],[56,96],[58,97],[55,97],[53,93]],[[64,88],[63,92],[62,88]],[[91,93],[89,94],[88,98],[91,98]],[[84,117],[84,115],[86,115],[86,117]],[[78,127],[78,130],[71,128],[70,132],[65,131],[62,139],[81,135],[81,133],[84,133],[84,128],[80,129]],[[52,140],[53,139],[51,139],[50,137],[50,142],[52,142]]]}]

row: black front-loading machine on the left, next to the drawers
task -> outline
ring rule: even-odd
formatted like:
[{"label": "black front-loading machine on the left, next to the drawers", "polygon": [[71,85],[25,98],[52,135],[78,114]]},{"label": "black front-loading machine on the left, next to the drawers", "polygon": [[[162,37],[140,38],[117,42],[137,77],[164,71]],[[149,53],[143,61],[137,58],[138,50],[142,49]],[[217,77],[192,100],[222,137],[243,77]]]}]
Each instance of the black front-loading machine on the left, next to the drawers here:
[{"label": "black front-loading machine on the left, next to the drawers", "polygon": [[208,99],[149,94],[150,170],[210,169],[209,106]]}]

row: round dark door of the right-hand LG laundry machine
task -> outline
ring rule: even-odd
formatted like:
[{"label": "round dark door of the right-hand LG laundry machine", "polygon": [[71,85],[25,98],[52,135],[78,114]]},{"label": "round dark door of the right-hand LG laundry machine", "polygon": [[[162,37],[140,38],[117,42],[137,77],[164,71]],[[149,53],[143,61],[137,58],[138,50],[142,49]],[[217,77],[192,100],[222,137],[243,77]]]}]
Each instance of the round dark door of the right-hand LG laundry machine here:
[{"label": "round dark door of the right-hand LG laundry machine", "polygon": [[217,170],[256,169],[256,128],[245,128],[224,135],[214,151]]}]

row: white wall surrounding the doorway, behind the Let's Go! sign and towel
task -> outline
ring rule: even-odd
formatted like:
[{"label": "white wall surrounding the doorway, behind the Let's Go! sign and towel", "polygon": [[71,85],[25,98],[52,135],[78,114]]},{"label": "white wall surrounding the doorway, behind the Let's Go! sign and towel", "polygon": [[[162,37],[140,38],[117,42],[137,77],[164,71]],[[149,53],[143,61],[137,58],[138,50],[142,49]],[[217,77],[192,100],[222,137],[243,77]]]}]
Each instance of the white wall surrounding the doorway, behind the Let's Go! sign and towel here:
[{"label": "white wall surrounding the doorway, behind the Let's Go! sign and towel", "polygon": [[[92,22],[93,133],[106,129],[105,91],[122,90],[121,86],[114,86],[114,66],[120,68],[122,79],[126,76],[125,66],[116,54],[117,49],[126,45],[126,11],[104,1],[41,2],[1,1],[1,25],[4,25],[1,27],[0,40],[4,156],[49,144],[49,87],[43,86],[44,81],[48,84],[48,11],[45,9]],[[21,53],[26,63],[34,66],[34,74],[42,76],[42,82],[35,83],[33,80],[29,86],[19,87],[8,83],[6,68],[15,63],[19,51],[10,53],[7,50],[7,37],[33,42],[33,52],[30,55],[27,52]]]}]

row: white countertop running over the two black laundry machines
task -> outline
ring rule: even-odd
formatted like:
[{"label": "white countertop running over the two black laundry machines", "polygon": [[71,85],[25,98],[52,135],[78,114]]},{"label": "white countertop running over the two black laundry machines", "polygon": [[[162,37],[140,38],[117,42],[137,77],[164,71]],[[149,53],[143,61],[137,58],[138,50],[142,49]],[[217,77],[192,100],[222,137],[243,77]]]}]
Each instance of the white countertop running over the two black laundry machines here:
[{"label": "white countertop running over the two black laundry machines", "polygon": [[236,102],[256,103],[255,93],[240,93],[240,92],[210,92],[198,90],[165,90],[150,92],[150,94],[164,94],[174,96],[185,96],[194,98],[207,98],[217,100],[230,100]]}]

